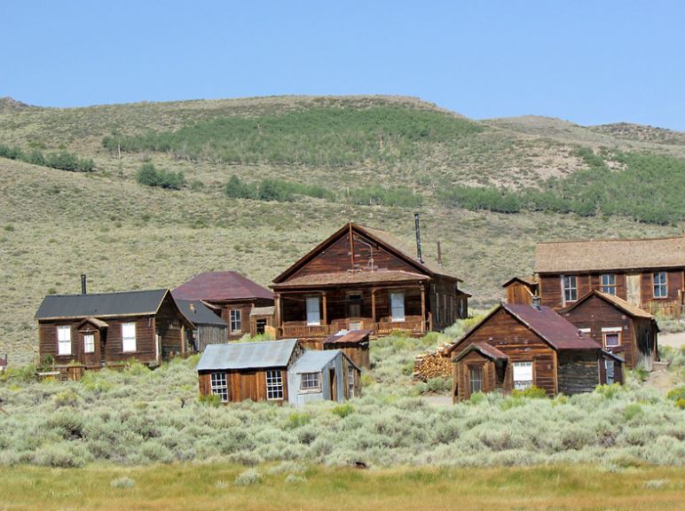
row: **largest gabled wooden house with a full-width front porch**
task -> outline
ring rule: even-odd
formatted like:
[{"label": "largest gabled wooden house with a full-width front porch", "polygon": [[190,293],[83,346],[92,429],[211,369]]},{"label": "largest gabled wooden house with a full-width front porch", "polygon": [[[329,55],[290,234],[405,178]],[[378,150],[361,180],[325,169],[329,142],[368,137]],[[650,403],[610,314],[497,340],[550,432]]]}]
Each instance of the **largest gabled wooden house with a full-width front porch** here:
[{"label": "largest gabled wooden house with a full-width front porch", "polygon": [[460,282],[387,232],[346,224],[273,280],[278,335],[442,330],[468,314]]}]

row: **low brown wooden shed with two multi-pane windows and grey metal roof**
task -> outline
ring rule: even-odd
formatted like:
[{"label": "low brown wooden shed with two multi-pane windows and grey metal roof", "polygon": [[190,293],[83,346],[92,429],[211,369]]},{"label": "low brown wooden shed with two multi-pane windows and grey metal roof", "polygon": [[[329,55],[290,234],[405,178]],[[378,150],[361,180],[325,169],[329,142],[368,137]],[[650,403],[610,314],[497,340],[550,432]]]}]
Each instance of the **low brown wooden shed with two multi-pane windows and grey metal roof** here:
[{"label": "low brown wooden shed with two multi-pane windows and grey metal roof", "polygon": [[295,339],[210,344],[197,365],[200,395],[287,402],[287,369],[302,353]]}]

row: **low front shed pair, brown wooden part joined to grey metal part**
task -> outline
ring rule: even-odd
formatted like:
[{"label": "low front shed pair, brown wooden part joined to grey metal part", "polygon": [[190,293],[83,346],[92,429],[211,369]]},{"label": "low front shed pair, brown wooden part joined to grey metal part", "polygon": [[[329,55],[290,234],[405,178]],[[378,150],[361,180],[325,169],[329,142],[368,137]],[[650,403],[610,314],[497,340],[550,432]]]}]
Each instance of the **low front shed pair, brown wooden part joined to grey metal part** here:
[{"label": "low front shed pair, brown wooden part joined to grey metal part", "polygon": [[212,344],[197,366],[201,396],[304,403],[359,395],[360,370],[341,350],[308,351],[295,339]]}]

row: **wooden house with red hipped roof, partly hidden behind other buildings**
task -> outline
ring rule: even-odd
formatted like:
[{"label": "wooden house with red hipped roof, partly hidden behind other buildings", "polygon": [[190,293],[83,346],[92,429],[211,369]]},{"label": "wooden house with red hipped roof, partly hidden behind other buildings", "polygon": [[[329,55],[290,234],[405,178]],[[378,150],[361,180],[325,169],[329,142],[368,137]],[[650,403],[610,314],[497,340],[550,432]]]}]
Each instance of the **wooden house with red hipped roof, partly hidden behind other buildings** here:
[{"label": "wooden house with red hipped roof, partly hidden behind other buildings", "polygon": [[209,307],[216,307],[228,325],[229,341],[244,334],[255,335],[256,331],[251,330],[250,312],[256,307],[273,306],[271,291],[237,271],[201,273],[174,289],[172,294],[180,300],[201,300]]}]

